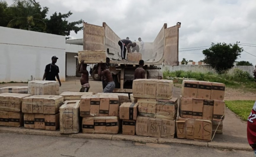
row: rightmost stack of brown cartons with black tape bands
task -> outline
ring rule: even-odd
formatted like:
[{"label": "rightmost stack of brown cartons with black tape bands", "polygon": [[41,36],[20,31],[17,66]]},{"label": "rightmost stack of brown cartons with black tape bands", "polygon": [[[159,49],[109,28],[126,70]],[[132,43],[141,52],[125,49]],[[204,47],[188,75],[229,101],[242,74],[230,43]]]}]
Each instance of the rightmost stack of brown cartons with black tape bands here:
[{"label": "rightmost stack of brown cartons with black tape bands", "polygon": [[181,90],[177,137],[211,141],[212,130],[222,133],[225,84],[183,80]]}]

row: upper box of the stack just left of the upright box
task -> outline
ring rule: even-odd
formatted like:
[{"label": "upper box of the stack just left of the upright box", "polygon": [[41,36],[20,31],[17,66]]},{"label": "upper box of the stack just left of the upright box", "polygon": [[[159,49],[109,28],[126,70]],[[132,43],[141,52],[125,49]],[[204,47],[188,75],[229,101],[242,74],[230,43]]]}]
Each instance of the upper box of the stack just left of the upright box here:
[{"label": "upper box of the stack just left of the upright box", "polygon": [[23,113],[56,114],[63,103],[63,96],[32,95],[22,99]]}]

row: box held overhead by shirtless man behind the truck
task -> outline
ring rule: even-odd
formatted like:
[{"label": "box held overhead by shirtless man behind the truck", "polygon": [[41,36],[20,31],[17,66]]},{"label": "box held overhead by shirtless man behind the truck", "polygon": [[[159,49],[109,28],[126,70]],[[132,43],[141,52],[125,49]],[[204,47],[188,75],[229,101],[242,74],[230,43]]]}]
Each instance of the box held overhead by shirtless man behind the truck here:
[{"label": "box held overhead by shirtless man behind the truck", "polygon": [[106,52],[105,50],[84,50],[78,52],[78,62],[84,60],[84,63],[95,64],[95,63],[105,63],[106,62]]}]

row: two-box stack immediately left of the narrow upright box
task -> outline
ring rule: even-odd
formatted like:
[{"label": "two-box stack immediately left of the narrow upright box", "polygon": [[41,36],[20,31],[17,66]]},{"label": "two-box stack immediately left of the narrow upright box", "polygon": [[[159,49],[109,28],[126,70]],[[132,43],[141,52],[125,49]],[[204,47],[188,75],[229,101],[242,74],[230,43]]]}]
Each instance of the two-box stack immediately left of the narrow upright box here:
[{"label": "two-box stack immediately left of the narrow upright box", "polygon": [[59,107],[63,96],[33,95],[22,100],[24,127],[56,130],[59,128]]}]

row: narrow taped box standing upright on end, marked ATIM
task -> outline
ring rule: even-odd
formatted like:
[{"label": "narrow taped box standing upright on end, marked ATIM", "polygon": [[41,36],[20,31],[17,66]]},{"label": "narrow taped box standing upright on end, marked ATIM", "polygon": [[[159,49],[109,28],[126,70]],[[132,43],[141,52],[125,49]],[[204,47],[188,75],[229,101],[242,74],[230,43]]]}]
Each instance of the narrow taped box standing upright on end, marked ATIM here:
[{"label": "narrow taped box standing upright on end, marked ATIM", "polygon": [[67,100],[59,108],[59,128],[62,134],[79,133],[79,105],[80,100]]}]

